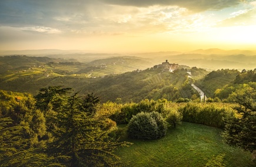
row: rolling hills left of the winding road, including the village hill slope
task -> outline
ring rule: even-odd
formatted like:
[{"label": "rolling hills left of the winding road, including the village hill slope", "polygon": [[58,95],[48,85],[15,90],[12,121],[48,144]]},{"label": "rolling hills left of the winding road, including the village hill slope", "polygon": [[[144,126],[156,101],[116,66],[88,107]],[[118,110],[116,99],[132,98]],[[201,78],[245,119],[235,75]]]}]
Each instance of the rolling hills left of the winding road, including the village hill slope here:
[{"label": "rolling hills left of the winding road, including the village hill slope", "polygon": [[[179,66],[174,72],[152,66],[141,70],[137,67],[145,68],[149,62],[128,56],[99,59],[89,64],[29,56],[13,56],[16,59],[14,62],[11,62],[12,56],[0,58],[3,65],[11,66],[10,70],[0,74],[1,89],[35,94],[38,89],[46,86],[64,85],[82,94],[97,93],[103,102],[116,99],[138,102],[145,98],[195,100],[198,93],[190,84],[193,79],[208,74],[204,69],[185,65]],[[19,62],[21,66],[18,66]],[[188,77],[188,72],[192,73],[192,79]]]}]

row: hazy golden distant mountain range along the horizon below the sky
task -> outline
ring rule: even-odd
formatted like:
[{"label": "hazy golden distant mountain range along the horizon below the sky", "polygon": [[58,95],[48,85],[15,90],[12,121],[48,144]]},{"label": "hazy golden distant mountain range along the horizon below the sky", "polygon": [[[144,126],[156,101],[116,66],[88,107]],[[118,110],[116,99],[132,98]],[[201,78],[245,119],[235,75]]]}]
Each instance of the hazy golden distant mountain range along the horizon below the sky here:
[{"label": "hazy golden distant mountain range along the horizon below the sky", "polygon": [[148,52],[139,54],[94,54],[78,50],[23,50],[23,51],[0,51],[0,55],[26,55],[46,56],[49,58],[64,59],[64,61],[79,61],[90,63],[99,59],[131,56],[144,59],[143,63],[150,68],[168,60],[172,64],[197,66],[208,71],[216,69],[254,69],[256,68],[256,51],[248,50],[222,50],[217,48],[198,49],[189,52]]}]

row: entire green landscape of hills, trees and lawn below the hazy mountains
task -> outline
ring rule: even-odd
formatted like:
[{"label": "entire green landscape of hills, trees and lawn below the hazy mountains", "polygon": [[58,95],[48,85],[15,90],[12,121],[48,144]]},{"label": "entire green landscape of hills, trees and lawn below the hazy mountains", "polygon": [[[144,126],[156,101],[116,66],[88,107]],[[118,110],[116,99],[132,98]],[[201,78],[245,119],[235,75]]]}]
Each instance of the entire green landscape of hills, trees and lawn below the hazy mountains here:
[{"label": "entire green landscape of hills, trees and lawn below the hazy mountains", "polygon": [[256,71],[161,62],[0,57],[0,166],[255,166]]}]

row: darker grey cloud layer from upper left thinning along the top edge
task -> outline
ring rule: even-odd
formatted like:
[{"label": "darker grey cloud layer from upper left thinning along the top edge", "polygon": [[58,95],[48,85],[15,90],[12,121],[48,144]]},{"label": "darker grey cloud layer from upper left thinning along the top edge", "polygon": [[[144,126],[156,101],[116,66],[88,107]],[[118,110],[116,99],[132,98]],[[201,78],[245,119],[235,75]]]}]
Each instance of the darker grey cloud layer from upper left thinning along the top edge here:
[{"label": "darker grey cloud layer from upper left thinning along the top edge", "polygon": [[[45,26],[69,31],[84,26],[128,23],[132,15],[151,6],[186,8],[189,11],[218,10],[238,5],[241,0],[12,0],[0,1],[0,23],[2,26]],[[115,6],[116,5],[116,6]],[[118,9],[119,8],[119,9]],[[123,10],[123,11],[122,11]],[[167,13],[165,13],[167,14]],[[168,15],[166,15],[169,17]],[[161,17],[162,18],[162,17]]]}]

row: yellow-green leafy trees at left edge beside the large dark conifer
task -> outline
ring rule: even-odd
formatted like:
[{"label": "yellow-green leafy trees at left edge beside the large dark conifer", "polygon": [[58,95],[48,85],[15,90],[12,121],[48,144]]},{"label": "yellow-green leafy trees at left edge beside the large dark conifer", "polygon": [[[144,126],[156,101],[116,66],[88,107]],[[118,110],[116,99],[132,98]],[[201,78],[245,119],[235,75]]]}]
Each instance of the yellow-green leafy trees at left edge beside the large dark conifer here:
[{"label": "yellow-green leafy trees at left edge beside the large dark conifer", "polygon": [[0,117],[9,117],[13,124],[22,126],[22,136],[31,145],[44,145],[46,135],[44,114],[35,108],[35,99],[28,93],[0,91]]}]

